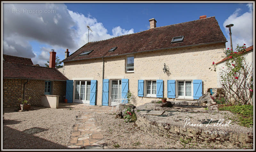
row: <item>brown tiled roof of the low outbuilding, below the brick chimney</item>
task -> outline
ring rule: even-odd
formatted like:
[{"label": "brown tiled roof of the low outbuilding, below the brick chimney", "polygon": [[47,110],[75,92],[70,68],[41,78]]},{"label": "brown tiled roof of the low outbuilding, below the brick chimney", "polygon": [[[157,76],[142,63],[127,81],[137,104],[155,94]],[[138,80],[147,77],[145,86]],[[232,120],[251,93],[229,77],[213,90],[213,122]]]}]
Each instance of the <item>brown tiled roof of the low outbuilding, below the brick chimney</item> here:
[{"label": "brown tiled roof of the low outbuilding, below the brick chimney", "polygon": [[68,78],[55,68],[10,62],[3,62],[3,78],[68,80]]}]

